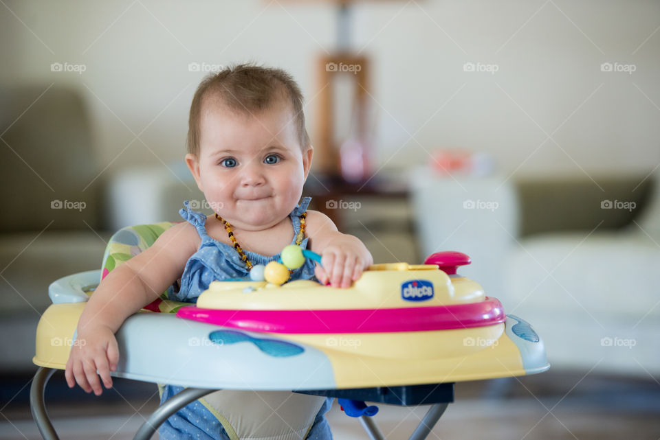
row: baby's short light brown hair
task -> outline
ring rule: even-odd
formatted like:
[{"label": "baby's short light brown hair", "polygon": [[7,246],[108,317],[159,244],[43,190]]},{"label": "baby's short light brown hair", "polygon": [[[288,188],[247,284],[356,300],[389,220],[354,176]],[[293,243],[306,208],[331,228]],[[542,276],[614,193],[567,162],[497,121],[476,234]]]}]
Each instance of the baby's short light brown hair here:
[{"label": "baby's short light brown hair", "polygon": [[199,157],[202,106],[209,97],[215,96],[232,111],[241,113],[256,113],[270,108],[279,100],[289,100],[296,121],[300,148],[304,151],[309,146],[303,112],[303,93],[294,78],[282,69],[241,64],[210,73],[197,86],[190,104],[186,141],[188,153],[195,157]]}]

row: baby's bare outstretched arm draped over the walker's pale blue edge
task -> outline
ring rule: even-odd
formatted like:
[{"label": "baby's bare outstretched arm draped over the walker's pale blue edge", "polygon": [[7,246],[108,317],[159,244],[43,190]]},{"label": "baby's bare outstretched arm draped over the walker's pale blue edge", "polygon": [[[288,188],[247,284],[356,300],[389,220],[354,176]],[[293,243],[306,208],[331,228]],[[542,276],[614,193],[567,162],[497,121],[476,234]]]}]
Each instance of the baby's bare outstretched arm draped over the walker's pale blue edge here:
[{"label": "baby's bare outstretched arm draped over the walker's pale blue edge", "polygon": [[78,320],[77,340],[81,343],[72,346],[65,371],[69,388],[78,382],[87,393],[94,390],[100,395],[98,375],[106,388],[112,386],[110,371],[119,362],[115,332],[126,318],[157,299],[181,276],[195,253],[195,239],[199,242],[191,224],[177,224],[101,281]]}]

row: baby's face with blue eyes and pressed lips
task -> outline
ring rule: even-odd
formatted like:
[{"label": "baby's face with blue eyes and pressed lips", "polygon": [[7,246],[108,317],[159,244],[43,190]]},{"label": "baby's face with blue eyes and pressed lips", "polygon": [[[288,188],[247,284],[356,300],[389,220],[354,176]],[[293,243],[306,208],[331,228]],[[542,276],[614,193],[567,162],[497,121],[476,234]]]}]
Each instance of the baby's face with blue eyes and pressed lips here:
[{"label": "baby's face with blue eyes and pressed lips", "polygon": [[303,194],[312,150],[300,148],[292,113],[283,102],[252,114],[202,109],[199,158],[186,163],[212,209],[238,229],[278,224]]}]

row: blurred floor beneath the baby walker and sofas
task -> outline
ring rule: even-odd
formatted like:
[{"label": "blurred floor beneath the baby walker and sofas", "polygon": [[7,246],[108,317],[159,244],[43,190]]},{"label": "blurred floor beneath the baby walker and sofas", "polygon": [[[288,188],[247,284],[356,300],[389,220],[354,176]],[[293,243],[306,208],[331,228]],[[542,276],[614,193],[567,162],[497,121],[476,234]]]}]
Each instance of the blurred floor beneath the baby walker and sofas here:
[{"label": "blurred floor beneath the baby walker and sofas", "polygon": [[[0,387],[0,439],[41,439],[30,418],[30,378],[5,375]],[[118,380],[101,397],[52,378],[46,402],[62,439],[131,439],[158,394],[153,384]],[[407,439],[428,407],[380,406],[374,421],[387,439]],[[339,440],[368,439],[360,422],[335,404],[329,413]],[[157,438],[157,437],[155,437]],[[549,371],[518,379],[456,384],[450,404],[428,439],[660,439],[660,383]]]}]

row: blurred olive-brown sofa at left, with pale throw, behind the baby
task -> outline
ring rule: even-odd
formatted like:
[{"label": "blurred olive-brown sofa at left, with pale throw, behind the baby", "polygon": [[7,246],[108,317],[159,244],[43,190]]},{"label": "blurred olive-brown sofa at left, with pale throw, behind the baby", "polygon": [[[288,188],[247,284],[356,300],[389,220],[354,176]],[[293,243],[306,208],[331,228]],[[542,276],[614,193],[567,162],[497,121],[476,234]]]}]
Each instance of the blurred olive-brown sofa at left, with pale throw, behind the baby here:
[{"label": "blurred olive-brown sofa at left, with pale throw, behind the baby", "polygon": [[170,174],[178,185],[159,194],[173,201],[133,196],[126,172],[110,175],[98,162],[89,109],[77,89],[4,85],[0,102],[0,332],[11,335],[0,338],[0,371],[24,373],[36,369],[36,325],[50,305],[50,283],[100,268],[107,240],[121,227],[180,220],[181,200],[199,190],[161,167],[140,170],[139,187]]}]

